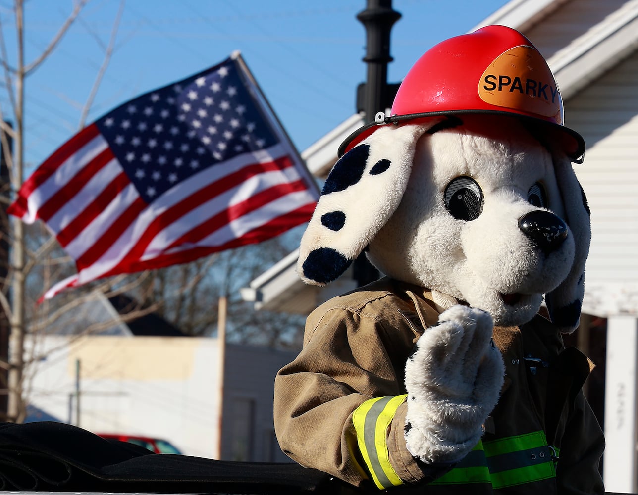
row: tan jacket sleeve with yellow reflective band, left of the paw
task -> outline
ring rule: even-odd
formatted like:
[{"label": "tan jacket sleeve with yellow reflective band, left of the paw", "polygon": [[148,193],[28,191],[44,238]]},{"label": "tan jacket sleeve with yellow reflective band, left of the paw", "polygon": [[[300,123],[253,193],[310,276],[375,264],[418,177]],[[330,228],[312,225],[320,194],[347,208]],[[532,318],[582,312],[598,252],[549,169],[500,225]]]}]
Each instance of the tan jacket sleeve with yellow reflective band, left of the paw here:
[{"label": "tan jacket sleeve with yellow reflective band, left of the paw", "polygon": [[275,380],[275,429],[294,461],[379,488],[449,469],[406,449],[403,367],[415,335],[396,323],[345,309],[309,318],[303,350]]}]

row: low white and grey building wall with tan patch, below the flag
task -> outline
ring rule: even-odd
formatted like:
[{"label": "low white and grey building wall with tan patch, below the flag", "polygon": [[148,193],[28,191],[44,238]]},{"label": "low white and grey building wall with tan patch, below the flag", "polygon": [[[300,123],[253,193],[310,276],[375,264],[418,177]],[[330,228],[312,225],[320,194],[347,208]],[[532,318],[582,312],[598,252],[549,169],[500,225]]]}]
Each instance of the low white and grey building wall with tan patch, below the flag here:
[{"label": "low white and grey building wall with tan patch, below the flag", "polygon": [[[78,424],[73,394],[79,362],[84,429],[164,438],[184,454],[210,459],[244,452],[237,445],[249,438],[244,460],[286,459],[272,445],[272,384],[293,353],[229,345],[223,389],[214,338],[49,336],[27,355],[38,357],[29,368],[30,403],[63,422]],[[225,414],[243,414],[243,422],[222,422],[222,390]]]}]

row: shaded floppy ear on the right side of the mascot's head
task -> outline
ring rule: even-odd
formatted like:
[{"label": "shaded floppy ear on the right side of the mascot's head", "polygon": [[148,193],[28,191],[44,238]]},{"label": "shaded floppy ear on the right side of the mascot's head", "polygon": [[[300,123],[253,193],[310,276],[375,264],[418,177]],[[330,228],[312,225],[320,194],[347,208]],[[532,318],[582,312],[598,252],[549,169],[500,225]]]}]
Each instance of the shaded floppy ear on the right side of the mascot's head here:
[{"label": "shaded floppy ear on the right side of the mascot's head", "polygon": [[545,294],[549,316],[563,333],[571,333],[581,317],[585,290],[585,262],[590,250],[590,209],[572,164],[564,155],[554,154],[554,174],[563,199],[565,221],[574,235],[574,264],[567,278],[552,292]]}]

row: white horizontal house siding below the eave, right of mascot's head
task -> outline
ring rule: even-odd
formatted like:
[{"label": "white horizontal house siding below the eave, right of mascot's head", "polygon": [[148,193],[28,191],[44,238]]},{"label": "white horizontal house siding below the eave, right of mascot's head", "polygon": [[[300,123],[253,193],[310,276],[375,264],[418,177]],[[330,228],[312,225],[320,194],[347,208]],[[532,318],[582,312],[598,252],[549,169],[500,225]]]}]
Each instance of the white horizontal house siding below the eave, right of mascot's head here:
[{"label": "white horizontal house siding below the eave, right of mascot's head", "polygon": [[575,170],[592,222],[586,310],[638,313],[638,52],[567,102],[588,151]]}]

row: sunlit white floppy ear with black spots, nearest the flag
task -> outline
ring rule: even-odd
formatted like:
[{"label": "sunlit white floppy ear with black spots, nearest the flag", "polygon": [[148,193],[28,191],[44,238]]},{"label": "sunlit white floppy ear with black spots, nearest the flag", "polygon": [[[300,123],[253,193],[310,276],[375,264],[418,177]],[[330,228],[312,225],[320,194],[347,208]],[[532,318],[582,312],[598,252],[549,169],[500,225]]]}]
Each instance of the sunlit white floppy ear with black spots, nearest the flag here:
[{"label": "sunlit white floppy ear with black spots, nearest the flag", "polygon": [[304,282],[337,279],[385,225],[401,202],[417,140],[434,123],[377,129],[334,165],[299,246]]}]

